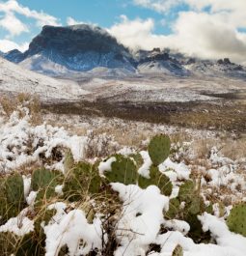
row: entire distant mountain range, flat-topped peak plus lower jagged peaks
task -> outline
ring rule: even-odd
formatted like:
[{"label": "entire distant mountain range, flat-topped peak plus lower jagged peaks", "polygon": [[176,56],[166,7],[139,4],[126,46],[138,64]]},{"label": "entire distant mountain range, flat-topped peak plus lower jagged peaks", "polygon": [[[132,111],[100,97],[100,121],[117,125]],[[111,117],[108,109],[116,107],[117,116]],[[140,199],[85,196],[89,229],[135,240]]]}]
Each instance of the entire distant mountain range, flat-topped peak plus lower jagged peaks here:
[{"label": "entire distant mountain range, flat-topped peak plus lower jagged peaks", "polygon": [[[1,53],[0,53],[1,55]],[[223,60],[190,58],[169,49],[153,48],[131,53],[106,30],[92,25],[44,26],[22,53],[2,53],[23,68],[51,76],[69,75],[174,75],[232,76],[246,78],[246,68]]]}]

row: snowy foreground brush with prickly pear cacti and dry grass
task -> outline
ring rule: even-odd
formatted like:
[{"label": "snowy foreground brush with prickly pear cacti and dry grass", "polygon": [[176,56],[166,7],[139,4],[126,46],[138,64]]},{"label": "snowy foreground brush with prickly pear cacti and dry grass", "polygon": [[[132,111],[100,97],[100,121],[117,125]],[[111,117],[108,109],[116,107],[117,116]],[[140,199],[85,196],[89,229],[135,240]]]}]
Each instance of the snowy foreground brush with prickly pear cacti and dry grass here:
[{"label": "snowy foreground brush with prickly pear cacti and dry grass", "polygon": [[149,130],[127,146],[38,121],[38,100],[19,98],[1,100],[1,255],[244,255],[243,144],[236,157]]}]

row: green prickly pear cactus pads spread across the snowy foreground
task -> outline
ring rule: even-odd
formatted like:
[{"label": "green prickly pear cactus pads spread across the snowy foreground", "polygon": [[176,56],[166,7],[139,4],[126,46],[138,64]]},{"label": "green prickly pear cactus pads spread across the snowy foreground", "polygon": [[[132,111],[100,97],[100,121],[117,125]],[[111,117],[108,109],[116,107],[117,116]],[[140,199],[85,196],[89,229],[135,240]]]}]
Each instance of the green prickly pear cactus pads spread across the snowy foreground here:
[{"label": "green prickly pear cactus pads spread across the snowy foreground", "polygon": [[[83,210],[86,213],[89,223],[92,223],[95,219],[97,211],[95,205],[97,202],[100,205],[104,205],[104,207],[105,205],[108,207],[110,204],[117,205],[116,203],[118,203],[117,199],[119,200],[119,197],[116,195],[117,199],[115,200],[114,193],[116,192],[110,190],[110,183],[139,185],[142,188],[147,188],[149,185],[156,185],[160,188],[162,194],[170,196],[173,185],[170,179],[161,173],[158,168],[158,165],[169,156],[170,147],[170,139],[166,135],[157,135],[150,140],[148,150],[152,165],[150,166],[148,178],[138,173],[138,169],[144,163],[140,154],[133,154],[128,157],[114,155],[116,160],[112,162],[110,170],[104,171],[104,177],[99,176],[98,162],[95,164],[89,162],[75,163],[70,151],[67,152],[64,159],[64,174],[46,169],[35,170],[31,179],[31,189],[38,192],[34,207],[34,212],[37,215],[34,223],[35,229],[32,234],[25,235],[21,240],[16,241],[16,244],[21,249],[20,254],[17,253],[16,255],[24,255],[23,253],[30,256],[44,254],[45,234],[41,229],[41,223],[44,222],[47,224],[55,214],[55,210],[46,209],[46,202],[54,198],[57,200],[58,195],[55,192],[57,185],[63,185],[64,195],[60,195],[59,199],[72,202],[70,206]],[[111,200],[108,200],[108,202],[111,203],[106,203],[107,196]],[[24,208],[24,202],[24,186],[21,175],[14,174],[6,179],[0,179],[0,215],[4,221],[12,216],[16,216]],[[185,204],[184,208],[181,209],[180,205],[182,202]],[[106,213],[110,215],[111,212],[108,208]],[[111,215],[120,211],[119,208],[121,208],[121,205],[118,209],[112,209],[113,212]],[[203,233],[201,222],[197,216],[208,210],[211,211],[210,207],[205,207],[199,189],[190,180],[179,186],[178,197],[170,200],[169,211],[165,213],[164,217],[167,219],[179,218],[187,221],[191,227],[188,235],[195,242],[199,242],[201,239],[204,241],[207,234]],[[238,205],[232,209],[227,220],[229,228],[233,232],[243,236],[246,236],[245,216],[246,205]],[[114,221],[114,219],[112,218],[110,221]],[[7,236],[7,234],[5,235]],[[0,233],[0,246],[1,236],[4,235]],[[31,244],[31,246],[27,244]],[[36,252],[38,254],[34,254]],[[66,253],[63,254],[60,252],[59,255],[66,255]],[[182,247],[177,245],[172,255],[182,256]]]}]

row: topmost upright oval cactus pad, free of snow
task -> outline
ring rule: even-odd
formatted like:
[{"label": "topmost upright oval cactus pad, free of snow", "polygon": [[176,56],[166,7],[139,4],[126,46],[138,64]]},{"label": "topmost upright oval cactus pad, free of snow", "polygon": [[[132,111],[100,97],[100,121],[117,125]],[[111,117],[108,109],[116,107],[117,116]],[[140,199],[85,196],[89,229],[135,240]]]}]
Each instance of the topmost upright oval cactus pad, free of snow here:
[{"label": "topmost upright oval cactus pad, free of snow", "polygon": [[148,148],[152,163],[158,166],[170,154],[171,141],[169,136],[161,134],[156,135],[150,140]]}]

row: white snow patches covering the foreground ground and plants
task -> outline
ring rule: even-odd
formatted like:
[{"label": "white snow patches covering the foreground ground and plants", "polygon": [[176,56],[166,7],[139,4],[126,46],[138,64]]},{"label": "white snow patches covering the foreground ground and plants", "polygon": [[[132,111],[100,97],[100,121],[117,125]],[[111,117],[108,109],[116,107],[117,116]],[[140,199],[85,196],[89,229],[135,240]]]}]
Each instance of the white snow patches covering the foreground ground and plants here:
[{"label": "white snow patches covering the foreground ground and plants", "polygon": [[[18,112],[14,112],[10,119],[2,117],[0,120],[0,168],[2,174],[12,170],[21,171],[25,165],[34,162],[39,163],[43,157],[49,158],[54,148],[60,148],[62,154],[65,154],[66,149],[70,149],[75,161],[86,159],[85,152],[89,143],[87,135],[71,134],[65,128],[57,128],[47,124],[33,126],[30,123],[28,110],[23,108],[21,111],[26,113],[22,117],[18,115]],[[80,126],[83,127],[84,125],[80,123]],[[88,126],[85,128],[90,129]],[[171,129],[168,130],[163,127],[162,131],[171,132]],[[212,137],[214,134],[210,133],[210,136]],[[144,141],[143,145],[146,143]],[[189,147],[191,144],[187,142],[183,145]],[[30,151],[28,147],[31,147],[33,151]],[[178,145],[175,143],[173,148],[176,147]],[[124,148],[121,153],[129,155],[135,150],[132,147]],[[177,197],[179,186],[191,179],[194,162],[186,164],[180,154],[183,154],[181,148],[177,151],[177,156],[166,159],[158,166],[159,170],[172,181],[173,192],[171,196],[161,194],[155,185],[142,189],[138,185],[111,184],[113,190],[119,193],[119,198],[123,203],[118,224],[115,227],[115,236],[118,241],[114,251],[115,256],[172,256],[178,245],[182,247],[184,256],[245,255],[246,238],[230,232],[225,222],[232,209],[232,204],[236,201],[246,201],[246,164],[240,165],[243,161],[245,163],[245,158],[232,160],[223,156],[216,148],[211,149],[210,156],[207,156],[209,164],[201,172],[201,194],[205,198],[205,202],[209,203],[208,200],[214,196],[214,191],[223,190],[227,186],[232,201],[225,207],[223,213],[218,210],[218,204],[212,202],[213,213],[202,213],[198,216],[203,230],[210,232],[211,240],[208,243],[195,243],[187,236],[190,229],[187,222],[178,219],[168,220],[163,216],[163,213],[169,209],[170,199]],[[192,152],[188,150],[186,154],[192,155]],[[64,156],[51,163],[47,161],[45,167],[64,172]],[[141,156],[144,163],[138,172],[148,174],[151,164],[149,153],[143,149]],[[192,157],[190,156],[190,158]],[[176,160],[176,158],[180,159]],[[99,165],[100,174],[103,175],[103,171],[107,169],[110,171],[114,160],[111,158],[106,162],[103,161]],[[201,168],[198,163],[196,167],[198,170]],[[207,176],[209,176],[208,180],[205,179]],[[23,236],[34,231],[34,220],[27,213],[33,207],[36,191],[30,190],[30,176],[28,174],[23,176],[23,180],[25,197],[29,206],[18,216],[9,219],[0,226],[2,233],[9,231],[17,236]],[[62,186],[56,190],[61,193]],[[218,200],[223,200],[224,197],[223,192],[217,195]],[[93,221],[89,223],[86,213],[81,209],[74,208],[74,205],[71,205],[71,210],[67,211],[68,202],[51,204],[48,209],[55,209],[56,213],[47,224],[42,225],[46,235],[45,255],[56,256],[59,249],[66,244],[69,250],[67,255],[70,256],[87,255],[94,249],[97,249],[97,255],[100,255],[102,241],[108,240],[102,227],[101,214],[96,214]],[[20,221],[22,225],[18,224]],[[162,227],[165,227],[165,232]],[[81,241],[83,244],[80,244]],[[160,249],[156,251],[150,249],[150,244],[158,245]]]}]

